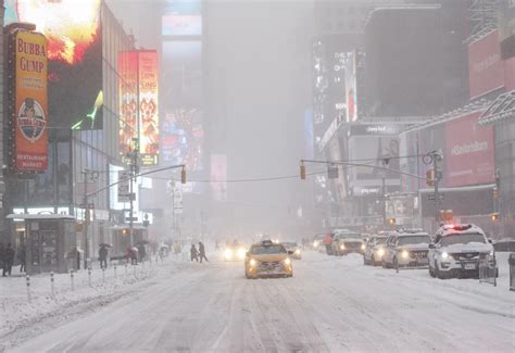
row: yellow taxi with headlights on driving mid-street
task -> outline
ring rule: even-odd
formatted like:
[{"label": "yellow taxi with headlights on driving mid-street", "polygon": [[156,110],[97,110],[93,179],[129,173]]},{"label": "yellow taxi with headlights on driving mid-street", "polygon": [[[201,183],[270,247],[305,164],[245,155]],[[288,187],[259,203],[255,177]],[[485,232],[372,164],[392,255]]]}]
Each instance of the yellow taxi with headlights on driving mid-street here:
[{"label": "yellow taxi with headlights on driving mid-street", "polygon": [[258,277],[293,277],[291,251],[282,244],[264,240],[250,247],[244,260],[247,278]]}]

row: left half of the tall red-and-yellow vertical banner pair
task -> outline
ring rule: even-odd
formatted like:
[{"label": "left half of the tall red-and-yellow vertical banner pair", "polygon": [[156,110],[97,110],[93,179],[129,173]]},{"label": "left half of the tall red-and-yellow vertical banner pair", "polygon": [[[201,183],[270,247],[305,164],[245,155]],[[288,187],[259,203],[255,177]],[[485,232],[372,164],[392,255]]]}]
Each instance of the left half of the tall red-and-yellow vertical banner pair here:
[{"label": "left half of the tall red-and-yellow vertical banner pair", "polygon": [[118,54],[120,154],[126,156],[138,136],[138,53]]}]

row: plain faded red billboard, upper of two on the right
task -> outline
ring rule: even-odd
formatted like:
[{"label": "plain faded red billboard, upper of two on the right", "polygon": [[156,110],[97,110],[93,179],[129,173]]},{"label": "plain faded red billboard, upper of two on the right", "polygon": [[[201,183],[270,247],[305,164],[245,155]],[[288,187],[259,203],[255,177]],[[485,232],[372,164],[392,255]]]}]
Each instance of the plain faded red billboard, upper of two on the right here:
[{"label": "plain faded red billboard, upper of two on the right", "polygon": [[504,86],[504,68],[498,30],[468,46],[470,99]]}]

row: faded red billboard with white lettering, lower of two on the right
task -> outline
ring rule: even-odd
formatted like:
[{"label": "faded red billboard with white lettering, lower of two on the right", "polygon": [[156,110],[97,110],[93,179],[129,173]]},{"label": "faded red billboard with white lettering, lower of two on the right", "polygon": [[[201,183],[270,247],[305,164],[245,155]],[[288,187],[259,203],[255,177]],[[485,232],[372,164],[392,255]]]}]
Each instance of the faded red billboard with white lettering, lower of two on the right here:
[{"label": "faded red billboard with white lettering, lower of two on the right", "polygon": [[494,180],[493,128],[479,126],[481,112],[445,124],[445,186],[489,184]]}]

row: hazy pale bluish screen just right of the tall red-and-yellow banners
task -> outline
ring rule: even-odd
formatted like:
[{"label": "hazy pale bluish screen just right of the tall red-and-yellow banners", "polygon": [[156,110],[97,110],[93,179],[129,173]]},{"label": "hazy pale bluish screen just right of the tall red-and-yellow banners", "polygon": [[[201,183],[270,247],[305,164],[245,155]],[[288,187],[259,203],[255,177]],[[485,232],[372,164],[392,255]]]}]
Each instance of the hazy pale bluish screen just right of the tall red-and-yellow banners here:
[{"label": "hazy pale bluish screen just right of the tall red-and-yellow banners", "polygon": [[203,112],[198,109],[175,109],[161,125],[161,164],[186,164],[188,171],[203,168]]}]

